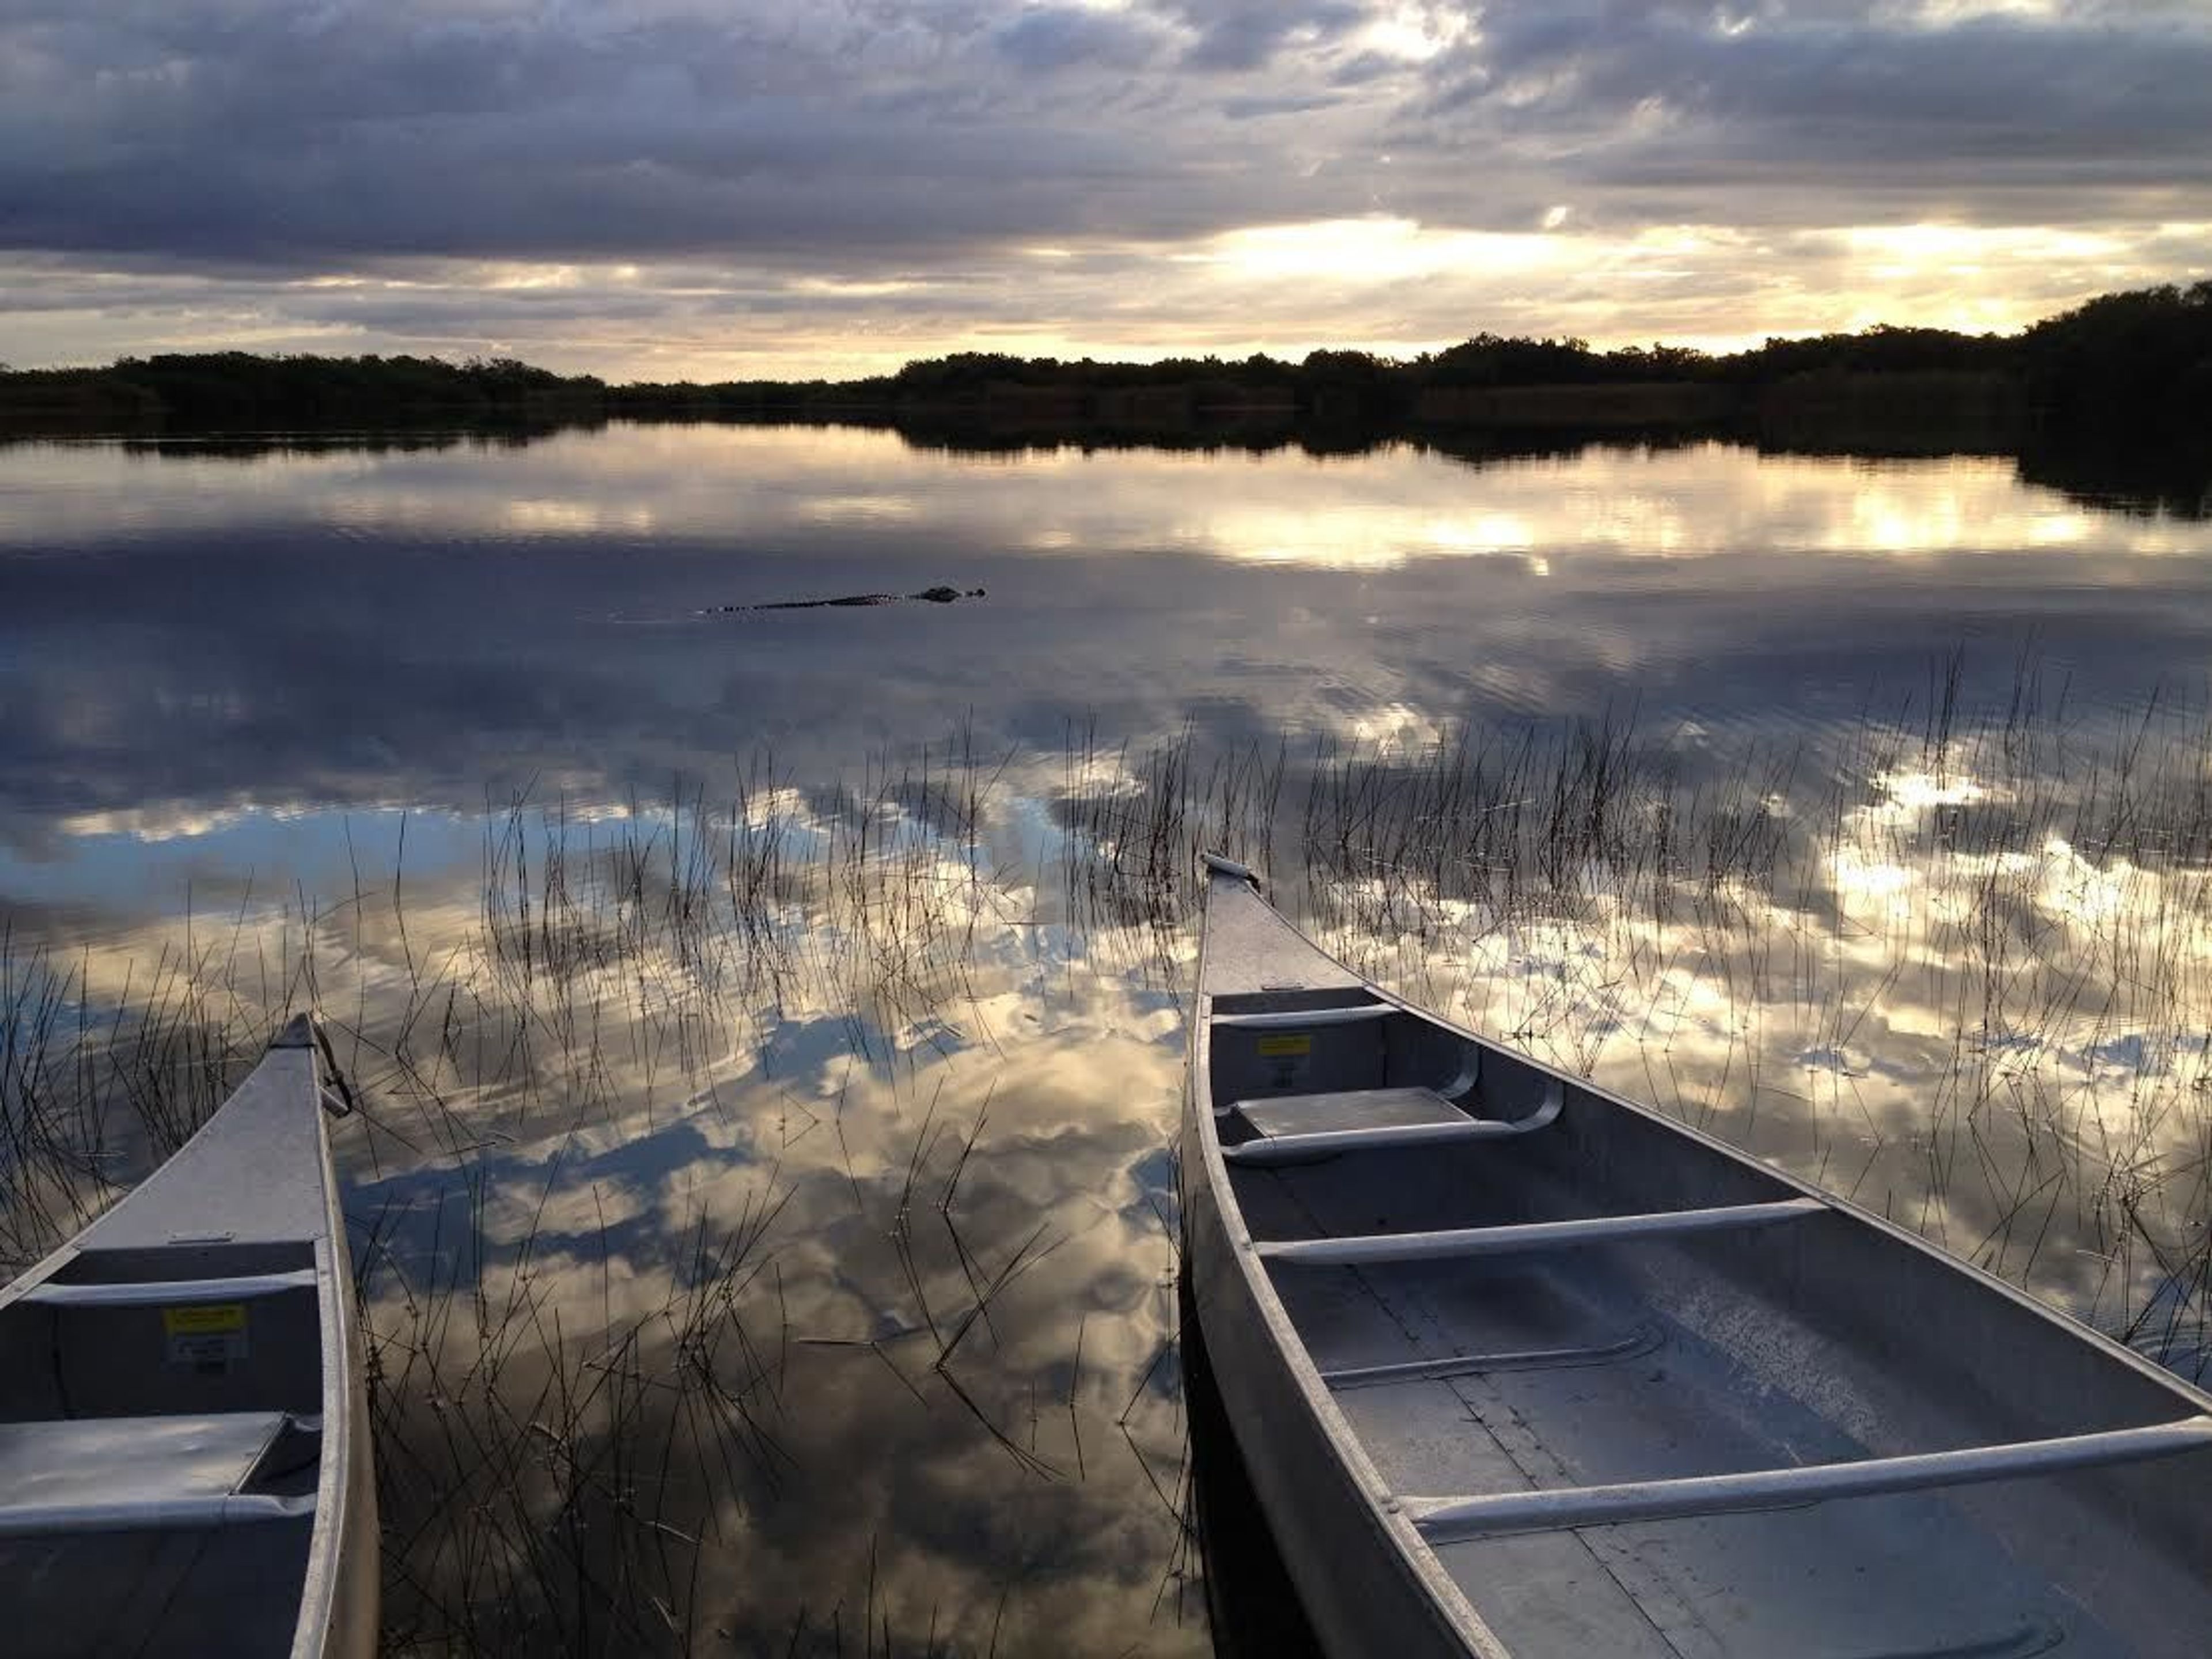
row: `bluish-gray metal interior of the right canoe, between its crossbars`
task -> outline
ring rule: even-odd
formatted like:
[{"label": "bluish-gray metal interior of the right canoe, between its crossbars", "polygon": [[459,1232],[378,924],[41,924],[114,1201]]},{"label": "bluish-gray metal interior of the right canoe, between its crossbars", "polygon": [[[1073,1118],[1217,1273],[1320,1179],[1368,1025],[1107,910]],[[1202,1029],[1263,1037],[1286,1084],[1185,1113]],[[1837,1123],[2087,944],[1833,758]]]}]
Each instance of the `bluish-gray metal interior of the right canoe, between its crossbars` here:
[{"label": "bluish-gray metal interior of the right canoe, between its crossbars", "polygon": [[[1294,1117],[1237,1102],[1444,1093],[1475,1071],[1453,1102],[1520,1119],[1555,1086],[1411,1011],[1298,1033],[1214,1020],[1367,1000],[1340,980],[1206,998],[1199,1082],[1219,1144]],[[1577,1086],[1557,1121],[1524,1137],[1223,1170],[1228,1225],[1263,1243],[1805,1199]],[[1902,1458],[2203,1409],[2179,1383],[1834,1208],[1756,1230],[1261,1272],[1402,1498]],[[1416,1363],[1433,1365],[1385,1369]],[[2212,1650],[2208,1482],[2212,1453],[2197,1451],[1433,1553],[1522,1657],[2201,1655]]]}]

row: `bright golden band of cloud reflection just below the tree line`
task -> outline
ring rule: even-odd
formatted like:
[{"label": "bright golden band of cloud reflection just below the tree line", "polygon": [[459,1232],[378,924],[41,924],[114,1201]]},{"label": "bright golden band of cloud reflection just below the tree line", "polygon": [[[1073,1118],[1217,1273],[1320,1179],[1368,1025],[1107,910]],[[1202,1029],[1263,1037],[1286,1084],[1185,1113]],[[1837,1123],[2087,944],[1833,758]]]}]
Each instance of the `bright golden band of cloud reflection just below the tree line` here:
[{"label": "bright golden band of cloud reflection just below the tree line", "polygon": [[[650,535],[745,542],[821,526],[922,524],[984,549],[1177,546],[1358,568],[1469,551],[1672,557],[1761,551],[1955,553],[2095,542],[2203,553],[2212,529],[2112,520],[2024,487],[2011,460],[1761,458],[1697,442],[1493,458],[1469,469],[1411,445],[1352,458],[1164,449],[918,451],[858,427],[615,427],[520,447],[270,449],[164,445],[7,451],[29,478],[9,542],[175,535],[206,524],[449,540]],[[1285,553],[1283,549],[1290,549]]]}]

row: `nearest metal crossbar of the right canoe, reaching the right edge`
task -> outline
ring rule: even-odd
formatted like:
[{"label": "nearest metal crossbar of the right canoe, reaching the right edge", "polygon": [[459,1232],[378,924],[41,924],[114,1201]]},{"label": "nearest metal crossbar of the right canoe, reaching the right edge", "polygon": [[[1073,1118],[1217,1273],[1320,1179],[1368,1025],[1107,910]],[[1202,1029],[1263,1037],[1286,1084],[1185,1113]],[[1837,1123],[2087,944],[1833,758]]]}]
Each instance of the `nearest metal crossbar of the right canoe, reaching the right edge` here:
[{"label": "nearest metal crossbar of the right canoe, reaching the right edge", "polygon": [[1984,1480],[2024,1480],[2066,1469],[2174,1458],[2212,1447],[2212,1416],[2154,1422],[2141,1429],[2070,1433],[2057,1440],[2015,1440],[1962,1451],[1927,1451],[1907,1458],[1867,1458],[1798,1469],[1754,1469],[1736,1475],[1692,1475],[1688,1480],[1632,1480],[1610,1486],[1562,1486],[1553,1491],[1495,1493],[1486,1498],[1405,1498],[1420,1535],[1431,1544],[1455,1544],[1491,1533],[1557,1531],[1566,1526],[1615,1526],[1619,1522],[1686,1520],[1728,1515],[1745,1509],[1816,1504],[1825,1498],[1874,1498],[1880,1493],[1966,1486]]}]

